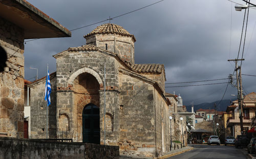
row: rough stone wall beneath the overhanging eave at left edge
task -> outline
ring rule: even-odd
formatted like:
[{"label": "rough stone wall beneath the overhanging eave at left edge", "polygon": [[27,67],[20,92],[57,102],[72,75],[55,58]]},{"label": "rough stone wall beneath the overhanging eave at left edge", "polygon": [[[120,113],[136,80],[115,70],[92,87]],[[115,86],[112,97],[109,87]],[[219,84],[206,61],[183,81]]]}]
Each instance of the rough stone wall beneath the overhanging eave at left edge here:
[{"label": "rough stone wall beneath the overhanging eave at left edge", "polygon": [[0,73],[0,136],[24,136],[24,30],[0,17],[0,45],[7,67]]}]

